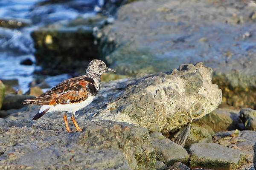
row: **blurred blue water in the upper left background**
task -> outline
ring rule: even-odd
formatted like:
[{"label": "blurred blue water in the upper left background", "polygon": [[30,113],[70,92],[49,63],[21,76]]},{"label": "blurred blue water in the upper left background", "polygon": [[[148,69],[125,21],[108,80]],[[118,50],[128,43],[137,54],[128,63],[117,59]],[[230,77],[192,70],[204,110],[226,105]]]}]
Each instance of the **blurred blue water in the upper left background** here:
[{"label": "blurred blue water in the upper left background", "polygon": [[[91,17],[100,10],[102,0],[63,0],[62,3],[46,4],[45,0],[1,0],[0,20],[18,20],[29,26],[23,28],[0,27],[0,79],[18,79],[19,88],[29,90],[29,83],[36,78],[35,64],[21,65],[23,59],[35,62],[35,52],[31,32],[47,24],[74,20],[77,17]],[[44,5],[37,5],[45,3]],[[52,87],[64,79],[67,74],[47,77]]]}]

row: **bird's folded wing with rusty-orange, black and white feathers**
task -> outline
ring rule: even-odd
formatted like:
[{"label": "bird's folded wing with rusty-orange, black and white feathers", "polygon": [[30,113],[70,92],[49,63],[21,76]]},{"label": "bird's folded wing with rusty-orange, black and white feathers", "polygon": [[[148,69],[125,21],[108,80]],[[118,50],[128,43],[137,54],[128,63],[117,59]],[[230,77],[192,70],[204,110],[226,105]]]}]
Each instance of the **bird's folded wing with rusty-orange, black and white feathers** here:
[{"label": "bird's folded wing with rusty-orange, black and white feathers", "polygon": [[23,104],[31,105],[65,105],[82,102],[90,94],[96,95],[97,91],[91,78],[76,77],[67,79],[53,87],[44,94],[36,96],[35,99],[26,99]]}]

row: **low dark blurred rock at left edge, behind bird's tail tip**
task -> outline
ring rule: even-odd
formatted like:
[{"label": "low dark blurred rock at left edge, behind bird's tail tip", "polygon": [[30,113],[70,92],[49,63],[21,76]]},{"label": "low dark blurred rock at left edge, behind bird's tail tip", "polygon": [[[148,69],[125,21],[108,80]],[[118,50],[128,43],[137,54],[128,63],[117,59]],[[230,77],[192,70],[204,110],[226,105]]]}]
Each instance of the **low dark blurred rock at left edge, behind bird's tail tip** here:
[{"label": "low dark blurred rock at left edge, behind bird's tail tip", "polygon": [[18,95],[18,94],[9,94],[4,96],[2,110],[10,110],[10,109],[19,109],[23,108],[25,105],[22,102],[25,99],[31,99],[35,96],[30,95]]}]

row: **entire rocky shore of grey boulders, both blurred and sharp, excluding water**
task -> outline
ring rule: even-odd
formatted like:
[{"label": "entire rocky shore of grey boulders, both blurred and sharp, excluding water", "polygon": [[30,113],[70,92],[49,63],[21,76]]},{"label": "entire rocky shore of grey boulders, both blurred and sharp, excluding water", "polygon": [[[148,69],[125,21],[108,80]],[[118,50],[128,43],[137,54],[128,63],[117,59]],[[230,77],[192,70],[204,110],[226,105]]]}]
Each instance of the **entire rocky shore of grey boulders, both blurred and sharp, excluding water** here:
[{"label": "entire rocky shore of grey boulders, both blurred and sharp, excluding water", "polygon": [[80,75],[94,58],[117,72],[77,112],[79,133],[62,113],[32,121],[39,107],[22,101],[51,87],[44,78],[27,92],[0,81],[0,169],[253,170],[255,11],[254,1],[105,0],[93,17],[32,31],[36,61],[23,63],[39,76]]}]

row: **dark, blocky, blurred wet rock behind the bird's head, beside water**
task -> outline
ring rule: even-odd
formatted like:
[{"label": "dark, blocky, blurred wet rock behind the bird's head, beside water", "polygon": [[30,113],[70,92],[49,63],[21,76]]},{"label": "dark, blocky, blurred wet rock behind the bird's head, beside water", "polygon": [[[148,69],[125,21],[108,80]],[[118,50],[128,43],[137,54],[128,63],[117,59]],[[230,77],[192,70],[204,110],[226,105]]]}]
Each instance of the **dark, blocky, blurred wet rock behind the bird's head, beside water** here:
[{"label": "dark, blocky, blurred wet rock behind the bird's head, beside water", "polygon": [[79,69],[84,71],[85,65],[98,56],[91,27],[40,28],[32,32],[32,38],[36,63],[44,68],[42,73],[54,75]]}]

